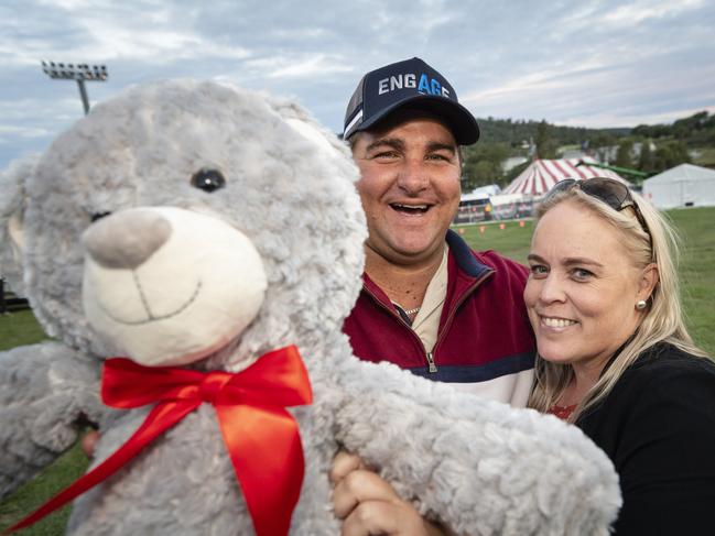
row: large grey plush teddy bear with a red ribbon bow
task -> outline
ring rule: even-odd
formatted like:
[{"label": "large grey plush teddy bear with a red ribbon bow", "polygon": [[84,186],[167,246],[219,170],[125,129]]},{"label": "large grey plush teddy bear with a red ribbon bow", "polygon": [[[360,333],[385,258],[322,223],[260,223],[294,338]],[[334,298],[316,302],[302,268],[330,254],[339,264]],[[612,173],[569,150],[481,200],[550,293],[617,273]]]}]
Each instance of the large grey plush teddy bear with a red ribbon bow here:
[{"label": "large grey plush teddy bear with a red ribbon bow", "polygon": [[[274,413],[300,441],[254,446],[263,420],[240,412],[229,426],[247,428],[226,438],[223,384],[192,387],[197,407],[84,493],[68,532],[253,534],[282,510],[290,534],[336,535],[327,472],[343,446],[458,534],[607,534],[618,478],[577,428],[351,354],[340,328],[362,270],[357,178],[347,147],[295,105],[188,80],[132,88],[11,166],[1,270],[55,341],[0,353],[0,495],[71,446],[82,418],[101,430],[95,466],[140,428],[155,401],[102,405],[105,358],[223,382],[294,344],[313,402]],[[139,374],[141,398],[153,376]],[[273,412],[261,389],[253,405]],[[227,450],[243,440],[251,501],[278,504],[262,522]],[[270,503],[260,479],[286,448],[300,466],[301,444],[291,518],[290,497]]]}]

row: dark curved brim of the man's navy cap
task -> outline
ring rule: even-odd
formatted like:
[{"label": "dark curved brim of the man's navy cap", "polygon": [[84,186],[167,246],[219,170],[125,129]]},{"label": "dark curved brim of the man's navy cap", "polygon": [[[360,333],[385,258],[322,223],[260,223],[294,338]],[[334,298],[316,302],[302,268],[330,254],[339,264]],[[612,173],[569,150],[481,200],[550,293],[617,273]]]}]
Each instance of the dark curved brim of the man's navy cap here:
[{"label": "dark curved brim of the man's navy cap", "polygon": [[479,125],[469,110],[458,102],[433,95],[413,95],[394,102],[379,113],[373,114],[369,120],[361,122],[354,132],[368,130],[387,119],[394,111],[405,107],[430,111],[440,118],[444,118],[459,145],[472,145],[479,140]]}]

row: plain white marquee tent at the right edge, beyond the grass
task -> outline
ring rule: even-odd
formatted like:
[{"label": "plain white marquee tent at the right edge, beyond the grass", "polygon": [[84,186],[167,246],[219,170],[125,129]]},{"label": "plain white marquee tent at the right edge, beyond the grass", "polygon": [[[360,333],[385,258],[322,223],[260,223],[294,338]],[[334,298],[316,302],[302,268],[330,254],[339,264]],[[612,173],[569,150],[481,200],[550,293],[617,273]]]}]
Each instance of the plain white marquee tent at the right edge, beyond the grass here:
[{"label": "plain white marquee tent at the right edge, beyond the grass", "polygon": [[681,164],[643,181],[643,196],[658,208],[715,206],[715,169]]}]

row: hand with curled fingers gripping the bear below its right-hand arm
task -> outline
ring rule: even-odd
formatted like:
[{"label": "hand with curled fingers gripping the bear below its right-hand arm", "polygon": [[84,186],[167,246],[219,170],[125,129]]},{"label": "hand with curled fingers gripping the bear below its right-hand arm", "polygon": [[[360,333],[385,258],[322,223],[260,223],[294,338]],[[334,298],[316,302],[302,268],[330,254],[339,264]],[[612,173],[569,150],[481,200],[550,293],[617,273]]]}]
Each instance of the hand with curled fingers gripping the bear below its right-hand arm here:
[{"label": "hand with curled fingers gripping the bear below its right-hand arm", "polygon": [[410,503],[402,501],[358,456],[338,452],[333,460],[331,482],[335,486],[335,515],[343,519],[343,536],[444,534],[424,521]]}]

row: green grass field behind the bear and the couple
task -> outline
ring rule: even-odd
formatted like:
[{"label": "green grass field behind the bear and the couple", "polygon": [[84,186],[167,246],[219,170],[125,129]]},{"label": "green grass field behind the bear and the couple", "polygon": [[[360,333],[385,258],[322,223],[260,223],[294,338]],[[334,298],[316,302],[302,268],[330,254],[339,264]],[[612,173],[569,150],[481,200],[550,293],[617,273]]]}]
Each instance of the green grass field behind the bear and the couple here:
[{"label": "green grass field behind the bear and the couple", "polygon": [[[683,256],[681,281],[687,326],[695,341],[711,355],[715,355],[715,207],[672,210],[668,217],[681,234]],[[479,250],[494,249],[526,262],[529,253],[532,222],[505,222],[463,227],[463,237]],[[44,338],[29,310],[0,317],[0,350],[29,344]],[[75,446],[35,480],[21,486],[0,502],[0,530],[31,512],[53,493],[82,474],[87,466],[84,455]],[[46,517],[25,529],[26,536],[63,534],[68,508]]]}]

